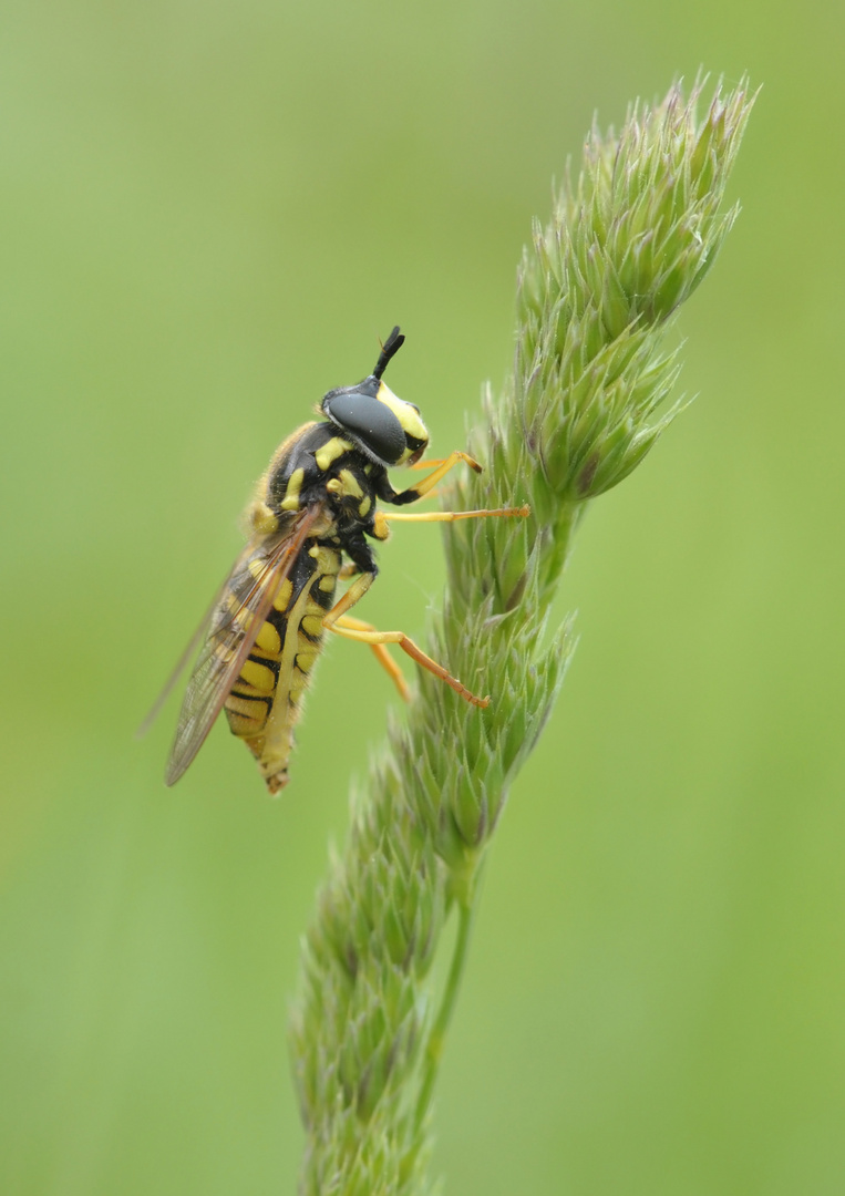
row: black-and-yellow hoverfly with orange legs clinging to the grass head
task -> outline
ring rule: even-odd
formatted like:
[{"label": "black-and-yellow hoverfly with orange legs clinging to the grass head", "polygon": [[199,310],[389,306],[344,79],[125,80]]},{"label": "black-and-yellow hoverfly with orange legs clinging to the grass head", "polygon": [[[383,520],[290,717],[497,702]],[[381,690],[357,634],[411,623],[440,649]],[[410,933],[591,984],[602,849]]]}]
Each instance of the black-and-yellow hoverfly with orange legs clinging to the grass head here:
[{"label": "black-and-yellow hoverfly with orange legs clinging to the grass head", "polygon": [[[442,460],[420,462],[428,432],[419,408],[397,398],[382,380],[403,341],[394,328],[369,377],[328,391],[316,409],[324,419],[290,435],[259,482],[247,509],[249,542],[145,724],[202,640],[182,701],[168,785],[193,762],[221,709],[232,733],[255,756],[269,792],[287,785],[294,727],[326,631],[370,645],[406,700],[408,688],[388,643],[397,643],[467,702],[488,704],[488,697],[472,694],[402,631],[378,631],[348,614],[378,573],[367,539],[385,541],[390,520],[530,513],[528,507],[425,514],[377,508],[378,499],[403,507],[424,498],[458,462],[481,471],[460,450]],[[396,465],[432,466],[432,472],[397,493],[388,480],[388,469]],[[339,580],[349,585],[335,602]]]}]

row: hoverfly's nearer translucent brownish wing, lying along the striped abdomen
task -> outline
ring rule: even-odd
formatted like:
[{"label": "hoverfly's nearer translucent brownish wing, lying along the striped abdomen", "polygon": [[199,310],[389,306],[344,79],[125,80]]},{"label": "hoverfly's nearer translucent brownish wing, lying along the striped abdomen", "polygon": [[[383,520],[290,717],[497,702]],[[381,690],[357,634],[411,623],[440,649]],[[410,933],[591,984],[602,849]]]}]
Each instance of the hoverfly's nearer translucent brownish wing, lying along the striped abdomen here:
[{"label": "hoverfly's nearer translucent brownish wing, lying along the striped abdomen", "polygon": [[[164,777],[168,785],[178,781],[205,743],[253,649],[279,587],[290,573],[318,514],[318,507],[303,511],[293,517],[284,532],[268,537],[257,548],[248,549],[236,561],[211,611],[205,643],[182,700]],[[206,624],[201,626],[188,646],[178,671],[205,627]],[[175,677],[169,682],[164,696],[172,688],[174,681]],[[153,713],[160,701],[153,707]]]}]

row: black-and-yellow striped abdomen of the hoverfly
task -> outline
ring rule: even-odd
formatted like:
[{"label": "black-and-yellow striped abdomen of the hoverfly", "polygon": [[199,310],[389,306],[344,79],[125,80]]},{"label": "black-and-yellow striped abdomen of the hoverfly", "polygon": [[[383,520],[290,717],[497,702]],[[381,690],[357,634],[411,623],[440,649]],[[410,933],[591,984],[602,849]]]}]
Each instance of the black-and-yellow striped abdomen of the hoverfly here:
[{"label": "black-and-yellow striped abdomen of the hoverfly", "polygon": [[232,734],[247,742],[270,793],[287,785],[293,728],[332,609],[340,550],[306,542],[225,702]]}]

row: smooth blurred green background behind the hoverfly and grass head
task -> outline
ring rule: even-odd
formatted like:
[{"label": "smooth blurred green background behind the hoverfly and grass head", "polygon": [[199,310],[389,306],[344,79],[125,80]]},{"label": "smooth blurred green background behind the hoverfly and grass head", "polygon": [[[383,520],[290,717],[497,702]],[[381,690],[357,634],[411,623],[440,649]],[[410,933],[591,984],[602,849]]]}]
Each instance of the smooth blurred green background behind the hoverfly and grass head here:
[{"label": "smooth blurred green background behind the hoverfly and grass head", "polygon": [[[461,446],[552,176],[703,63],[764,91],[679,324],[700,397],[580,531],[434,1170],[843,1192],[841,10],[8,0],[2,29],[0,1190],[293,1190],[298,941],[390,685],[330,646],[279,803],[223,728],[165,791],[175,702],[133,732],[276,443],[400,322],[391,385]],[[437,531],[382,563],[363,616],[420,631]]]}]

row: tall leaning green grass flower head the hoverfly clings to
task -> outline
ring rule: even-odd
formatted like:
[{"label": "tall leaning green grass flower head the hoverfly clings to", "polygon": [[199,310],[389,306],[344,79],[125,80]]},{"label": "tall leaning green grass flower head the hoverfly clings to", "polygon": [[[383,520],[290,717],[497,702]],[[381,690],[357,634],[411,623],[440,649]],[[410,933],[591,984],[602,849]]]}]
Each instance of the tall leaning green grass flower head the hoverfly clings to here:
[{"label": "tall leaning green grass flower head the hoverfly clings to", "polygon": [[[430,1191],[430,1104],[460,987],[479,869],[510,785],[537,740],[572,649],[547,628],[585,504],[636,469],[679,410],[663,347],[737,209],[724,189],[753,96],[698,83],[592,130],[577,179],[535,226],[518,271],[512,376],[468,446],[452,509],[528,502],[527,520],[446,525],[448,585],[432,655],[488,709],[427,673],[391,721],[303,948],[291,1046],[306,1131],[304,1196]],[[427,976],[458,929],[439,1008]]]}]

